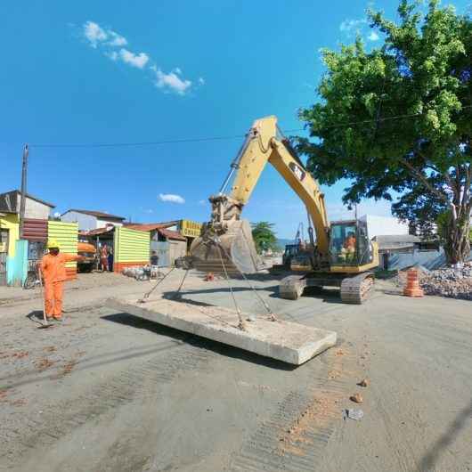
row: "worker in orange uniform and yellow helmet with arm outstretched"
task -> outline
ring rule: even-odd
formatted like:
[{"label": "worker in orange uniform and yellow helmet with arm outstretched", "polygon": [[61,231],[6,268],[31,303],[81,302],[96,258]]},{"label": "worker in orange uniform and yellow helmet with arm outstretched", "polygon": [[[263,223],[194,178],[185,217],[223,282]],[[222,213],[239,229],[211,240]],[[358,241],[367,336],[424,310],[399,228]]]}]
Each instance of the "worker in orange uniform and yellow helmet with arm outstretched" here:
[{"label": "worker in orange uniform and yellow helmet with arm outstretched", "polygon": [[40,269],[45,281],[45,314],[48,321],[62,320],[62,291],[66,281],[66,263],[83,256],[60,253],[57,240],[48,240],[49,253],[41,259]]}]

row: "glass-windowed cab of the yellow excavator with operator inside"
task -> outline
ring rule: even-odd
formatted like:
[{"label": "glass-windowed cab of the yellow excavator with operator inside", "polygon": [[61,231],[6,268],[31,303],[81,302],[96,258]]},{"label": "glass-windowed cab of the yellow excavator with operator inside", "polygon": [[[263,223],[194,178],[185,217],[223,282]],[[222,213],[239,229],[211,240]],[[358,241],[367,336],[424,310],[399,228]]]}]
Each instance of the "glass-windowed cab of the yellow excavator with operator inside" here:
[{"label": "glass-windowed cab of the yellow excavator with operator inside", "polygon": [[330,224],[330,264],[360,266],[373,259],[367,224],[361,220],[337,221]]}]

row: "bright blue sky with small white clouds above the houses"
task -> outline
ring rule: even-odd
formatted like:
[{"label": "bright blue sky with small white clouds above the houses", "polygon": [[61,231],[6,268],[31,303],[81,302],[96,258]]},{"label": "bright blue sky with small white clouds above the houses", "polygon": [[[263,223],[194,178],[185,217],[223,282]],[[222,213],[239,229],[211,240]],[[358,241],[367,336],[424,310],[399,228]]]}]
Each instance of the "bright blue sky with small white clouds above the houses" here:
[{"label": "bright blue sky with small white clouds above the houses", "polygon": [[[454,2],[460,12],[469,0]],[[396,2],[374,7],[395,18]],[[155,142],[244,134],[277,115],[301,127],[315,100],[321,47],[360,30],[368,4],[355,0],[56,0],[0,4],[0,191],[20,186],[29,143]],[[28,191],[57,210],[109,211],[134,221],[208,219],[240,139],[122,148],[32,148]],[[323,188],[330,218],[350,216],[343,183]],[[180,198],[168,197],[168,195]],[[184,202],[183,202],[184,200]],[[385,202],[360,213],[388,215]],[[291,237],[305,210],[272,168],[245,209]]]}]

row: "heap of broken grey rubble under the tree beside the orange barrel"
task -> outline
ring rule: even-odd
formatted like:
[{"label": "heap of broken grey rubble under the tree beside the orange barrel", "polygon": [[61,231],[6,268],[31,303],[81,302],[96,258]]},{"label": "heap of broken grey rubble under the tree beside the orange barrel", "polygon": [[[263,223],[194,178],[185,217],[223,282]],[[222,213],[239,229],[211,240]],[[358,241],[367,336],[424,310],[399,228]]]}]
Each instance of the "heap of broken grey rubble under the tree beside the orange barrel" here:
[{"label": "heap of broken grey rubble under the tree beside the orange barrel", "polygon": [[421,273],[419,283],[427,295],[472,300],[472,263]]}]

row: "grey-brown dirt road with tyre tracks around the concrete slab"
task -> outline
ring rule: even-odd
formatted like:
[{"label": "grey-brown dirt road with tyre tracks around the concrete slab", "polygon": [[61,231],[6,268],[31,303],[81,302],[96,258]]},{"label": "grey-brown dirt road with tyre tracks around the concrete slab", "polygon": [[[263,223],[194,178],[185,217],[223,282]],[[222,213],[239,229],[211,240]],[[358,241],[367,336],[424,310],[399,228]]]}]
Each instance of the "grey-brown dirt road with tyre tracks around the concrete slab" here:
[{"label": "grey-brown dirt road with tyre tracks around the concrete slab", "polygon": [[[292,369],[115,313],[106,297],[150,284],[114,274],[82,275],[66,321],[48,330],[33,321],[38,294],[2,292],[0,469],[472,469],[470,302],[405,298],[382,283],[367,305],[329,290],[292,302],[276,297],[276,280],[254,283],[281,318],[338,331],[338,346]],[[244,311],[264,313],[243,281],[235,292]],[[195,275],[183,297],[232,307],[223,281]],[[353,407],[361,421],[343,419]]]}]

